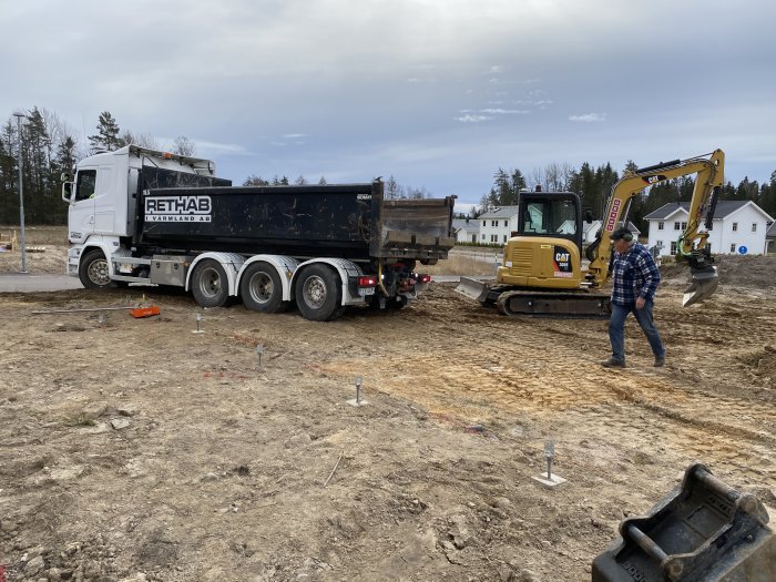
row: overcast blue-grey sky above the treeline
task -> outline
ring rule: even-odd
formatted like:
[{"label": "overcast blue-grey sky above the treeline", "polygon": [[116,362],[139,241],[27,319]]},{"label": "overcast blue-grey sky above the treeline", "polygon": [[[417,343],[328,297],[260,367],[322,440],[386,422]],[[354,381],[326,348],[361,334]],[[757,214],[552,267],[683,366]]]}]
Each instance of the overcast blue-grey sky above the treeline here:
[{"label": "overcast blue-grey sky above the treeline", "polygon": [[501,166],[716,147],[776,171],[773,0],[0,0],[0,119],[177,135],[242,183],[394,175],[476,203]]}]

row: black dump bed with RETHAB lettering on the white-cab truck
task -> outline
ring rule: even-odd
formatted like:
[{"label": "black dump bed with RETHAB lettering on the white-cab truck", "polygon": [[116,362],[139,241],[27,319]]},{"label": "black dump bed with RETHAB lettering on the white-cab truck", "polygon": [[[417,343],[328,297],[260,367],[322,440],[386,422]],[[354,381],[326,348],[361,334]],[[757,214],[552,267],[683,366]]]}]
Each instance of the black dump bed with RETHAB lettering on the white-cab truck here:
[{"label": "black dump bed with RETHAB lettering on the white-cab truck", "polygon": [[453,197],[386,201],[381,182],[149,188],[139,198],[139,247],[439,259],[455,245]]}]

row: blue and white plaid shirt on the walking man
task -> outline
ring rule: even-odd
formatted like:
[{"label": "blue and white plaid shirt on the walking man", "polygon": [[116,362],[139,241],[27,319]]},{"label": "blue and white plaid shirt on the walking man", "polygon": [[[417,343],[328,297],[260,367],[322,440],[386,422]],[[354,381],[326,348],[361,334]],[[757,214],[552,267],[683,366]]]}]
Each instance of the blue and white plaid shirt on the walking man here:
[{"label": "blue and white plaid shirt on the walking man", "polygon": [[636,297],[654,300],[658,283],[660,270],[644,245],[633,243],[624,255],[614,252],[613,304],[635,305]]}]

